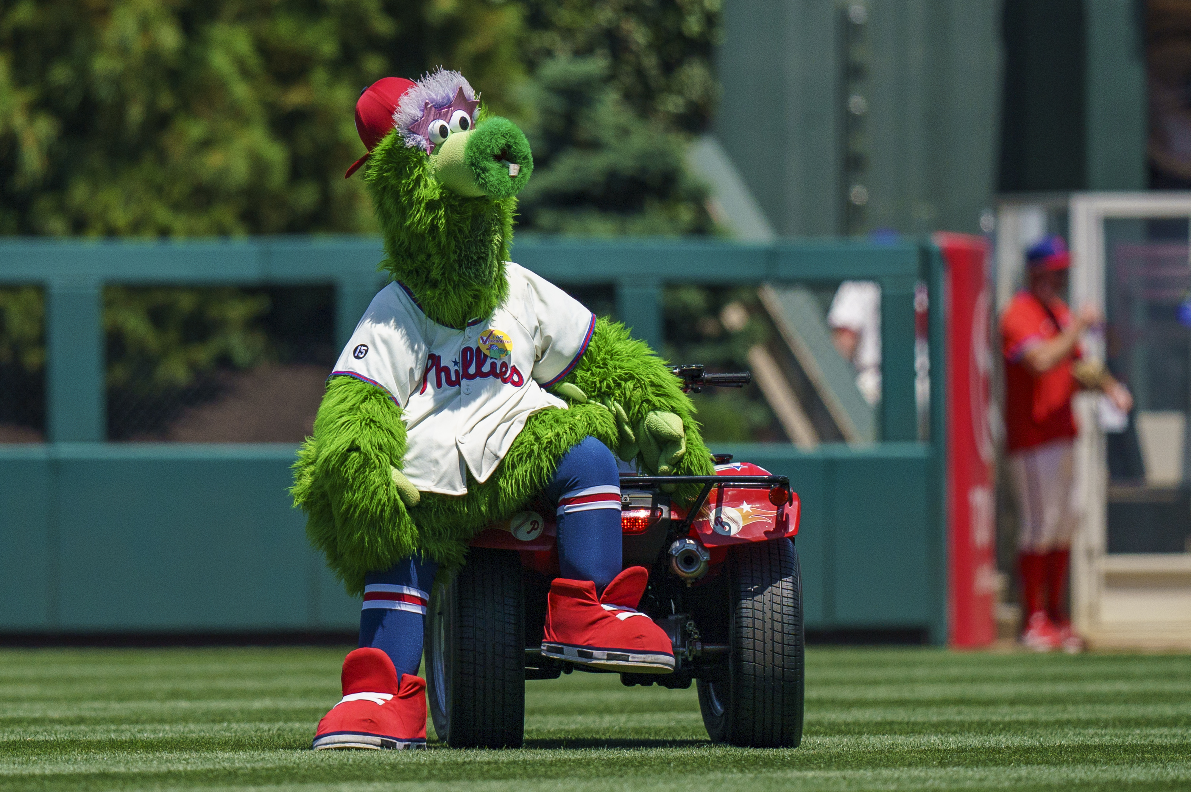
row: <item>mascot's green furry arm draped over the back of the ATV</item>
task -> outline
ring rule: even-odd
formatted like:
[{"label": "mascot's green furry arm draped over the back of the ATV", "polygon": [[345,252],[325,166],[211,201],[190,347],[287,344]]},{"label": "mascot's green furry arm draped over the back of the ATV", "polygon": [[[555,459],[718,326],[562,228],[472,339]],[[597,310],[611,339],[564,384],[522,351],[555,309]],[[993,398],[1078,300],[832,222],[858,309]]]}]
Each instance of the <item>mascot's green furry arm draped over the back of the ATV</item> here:
[{"label": "mascot's green furry arm draped over the back of the ATV", "polygon": [[[694,405],[682,393],[679,380],[666,362],[643,341],[629,335],[619,322],[599,319],[587,351],[566,378],[590,399],[612,400],[624,406],[634,426],[654,411],[673,412],[682,419],[686,454],[678,463],[678,475],[711,475],[711,453],[699,435]],[[682,487],[678,494],[692,499],[698,487]]]}]

